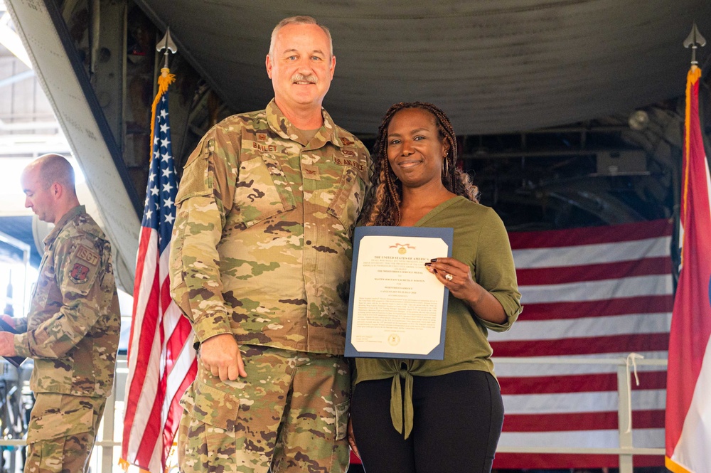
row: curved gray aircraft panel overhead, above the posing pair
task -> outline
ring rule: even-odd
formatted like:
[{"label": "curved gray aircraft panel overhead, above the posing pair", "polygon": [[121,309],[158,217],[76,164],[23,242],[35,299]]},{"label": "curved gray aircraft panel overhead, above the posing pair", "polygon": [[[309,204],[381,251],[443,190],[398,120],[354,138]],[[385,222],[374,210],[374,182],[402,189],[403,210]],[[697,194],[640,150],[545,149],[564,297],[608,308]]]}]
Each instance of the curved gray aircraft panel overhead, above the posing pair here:
[{"label": "curved gray aircraft panel overhead, above the posing pair", "polygon": [[240,111],[272,97],[264,56],[274,25],[314,16],[331,29],[337,59],[324,105],[368,133],[392,103],[411,100],[442,107],[459,134],[629,112],[683,94],[684,38],[694,21],[711,35],[703,0],[138,3]]}]

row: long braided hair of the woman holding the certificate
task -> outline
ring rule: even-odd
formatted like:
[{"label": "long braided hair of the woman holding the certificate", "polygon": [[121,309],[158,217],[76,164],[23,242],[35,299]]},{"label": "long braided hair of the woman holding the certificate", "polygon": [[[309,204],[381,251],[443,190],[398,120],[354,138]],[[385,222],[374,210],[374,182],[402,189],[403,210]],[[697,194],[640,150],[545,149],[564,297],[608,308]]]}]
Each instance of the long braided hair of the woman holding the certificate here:
[{"label": "long braided hair of the woman holding the certificate", "polygon": [[[387,127],[392,117],[400,110],[406,108],[419,108],[434,115],[439,138],[447,145],[446,164],[442,166],[442,184],[451,193],[464,196],[470,201],[479,202],[479,188],[474,186],[469,179],[469,174],[456,169],[456,136],[447,115],[436,105],[427,102],[400,102],[392,105],[383,117],[383,122],[378,128],[378,137],[373,146],[373,176],[371,181],[375,189],[375,196],[369,199],[368,205],[363,209],[365,225],[397,225],[400,223],[400,201],[402,199],[402,184],[397,180],[395,173],[387,161]],[[445,172],[446,171],[446,172]]]}]

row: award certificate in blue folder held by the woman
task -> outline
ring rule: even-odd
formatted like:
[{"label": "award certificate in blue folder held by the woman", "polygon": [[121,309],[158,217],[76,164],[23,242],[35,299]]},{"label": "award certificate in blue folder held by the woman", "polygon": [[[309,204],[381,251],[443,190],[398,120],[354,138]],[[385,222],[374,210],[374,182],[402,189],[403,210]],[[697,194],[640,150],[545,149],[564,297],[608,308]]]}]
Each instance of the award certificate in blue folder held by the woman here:
[{"label": "award certificate in blue folder held by the woman", "polygon": [[448,291],[424,263],[451,256],[453,233],[355,229],[346,356],[444,358]]}]

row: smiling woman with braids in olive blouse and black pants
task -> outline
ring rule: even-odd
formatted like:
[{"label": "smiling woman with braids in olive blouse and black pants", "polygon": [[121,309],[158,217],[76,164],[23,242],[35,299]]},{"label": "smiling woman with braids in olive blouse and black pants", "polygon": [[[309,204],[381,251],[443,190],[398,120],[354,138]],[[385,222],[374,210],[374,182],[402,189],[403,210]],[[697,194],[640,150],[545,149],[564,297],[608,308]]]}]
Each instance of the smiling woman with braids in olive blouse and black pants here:
[{"label": "smiling woman with braids in olive blouse and black pants", "polygon": [[380,124],[365,225],[454,228],[454,245],[426,264],[449,289],[444,360],[355,360],[349,440],[368,473],[488,473],[501,435],[487,333],[510,328],[520,293],[501,218],[479,204],[456,155],[432,104],[395,104]]}]

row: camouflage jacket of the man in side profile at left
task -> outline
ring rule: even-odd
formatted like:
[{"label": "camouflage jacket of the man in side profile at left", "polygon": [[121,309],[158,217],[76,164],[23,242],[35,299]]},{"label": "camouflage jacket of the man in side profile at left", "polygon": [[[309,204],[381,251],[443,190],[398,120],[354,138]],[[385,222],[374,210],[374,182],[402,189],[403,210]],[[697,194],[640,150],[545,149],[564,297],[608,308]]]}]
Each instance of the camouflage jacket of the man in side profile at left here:
[{"label": "camouflage jacket of the man in side profile at left", "polygon": [[107,397],[121,329],[111,244],[84,206],[66,213],[44,243],[30,312],[14,336],[17,354],[35,362],[30,387]]}]

